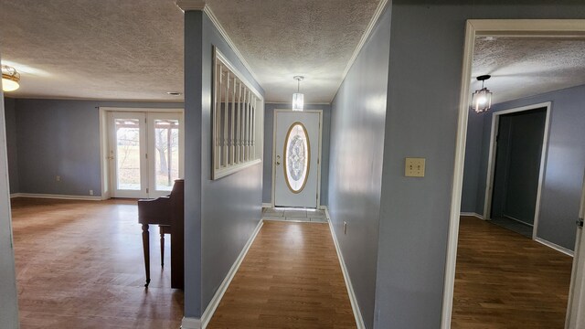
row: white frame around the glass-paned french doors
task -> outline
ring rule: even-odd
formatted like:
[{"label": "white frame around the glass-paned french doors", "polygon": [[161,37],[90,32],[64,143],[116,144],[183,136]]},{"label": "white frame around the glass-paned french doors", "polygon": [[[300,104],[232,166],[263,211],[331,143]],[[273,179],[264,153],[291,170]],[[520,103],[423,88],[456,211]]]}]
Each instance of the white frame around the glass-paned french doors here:
[{"label": "white frame around the glass-paned french doors", "polygon": [[[108,106],[101,106],[99,109],[100,115],[100,174],[101,174],[101,200],[107,200],[112,197],[112,184],[110,182],[110,160],[108,159],[108,152],[110,149],[109,146],[109,131],[108,131],[108,114],[112,111],[124,111],[124,112],[132,112],[132,111],[139,111],[139,112],[180,112],[183,116],[182,122],[185,122],[185,110],[183,108],[168,108],[168,109],[161,109],[161,108],[122,108],[122,107],[108,107]],[[181,134],[181,147],[185,146],[184,136],[185,136],[185,127],[184,129],[179,131]],[[180,165],[180,167],[184,167],[184,165]]]}]

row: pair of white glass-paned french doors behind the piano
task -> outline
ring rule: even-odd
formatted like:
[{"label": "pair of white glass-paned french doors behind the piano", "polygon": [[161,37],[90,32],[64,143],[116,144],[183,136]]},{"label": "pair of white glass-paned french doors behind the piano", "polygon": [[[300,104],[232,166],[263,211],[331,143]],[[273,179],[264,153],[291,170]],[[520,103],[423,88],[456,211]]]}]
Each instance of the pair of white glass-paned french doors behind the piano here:
[{"label": "pair of white glass-paned french doors behind the piano", "polygon": [[109,114],[112,197],[168,195],[183,177],[183,119],[176,112]]}]

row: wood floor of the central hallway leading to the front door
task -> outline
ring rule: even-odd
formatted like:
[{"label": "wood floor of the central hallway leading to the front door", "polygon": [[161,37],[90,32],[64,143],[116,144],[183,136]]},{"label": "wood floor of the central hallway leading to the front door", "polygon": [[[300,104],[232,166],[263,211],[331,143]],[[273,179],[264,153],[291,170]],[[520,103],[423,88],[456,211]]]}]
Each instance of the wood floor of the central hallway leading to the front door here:
[{"label": "wood floor of the central hallway leading to the front door", "polygon": [[207,328],[356,328],[328,225],[265,221]]}]

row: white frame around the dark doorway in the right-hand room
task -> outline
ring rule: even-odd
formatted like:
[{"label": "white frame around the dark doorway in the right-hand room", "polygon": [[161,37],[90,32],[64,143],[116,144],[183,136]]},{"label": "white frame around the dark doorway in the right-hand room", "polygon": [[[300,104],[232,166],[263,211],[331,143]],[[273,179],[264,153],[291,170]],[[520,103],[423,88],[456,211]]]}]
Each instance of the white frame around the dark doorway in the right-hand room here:
[{"label": "white frame around the dark doorway in the right-hand room", "polygon": [[484,220],[492,219],[492,192],[494,191],[494,174],[495,174],[495,154],[497,143],[495,137],[499,130],[500,116],[504,114],[516,113],[520,111],[530,111],[540,108],[546,108],[545,130],[542,139],[542,150],[540,151],[540,169],[538,172],[537,202],[534,211],[534,222],[532,228],[532,239],[537,239],[538,218],[540,215],[540,196],[542,194],[542,185],[545,178],[545,166],[547,164],[548,150],[548,129],[550,127],[550,101],[541,102],[533,105],[527,105],[519,108],[492,113],[492,134],[490,136],[490,152],[487,160],[487,178],[485,180],[485,202],[484,202]]}]

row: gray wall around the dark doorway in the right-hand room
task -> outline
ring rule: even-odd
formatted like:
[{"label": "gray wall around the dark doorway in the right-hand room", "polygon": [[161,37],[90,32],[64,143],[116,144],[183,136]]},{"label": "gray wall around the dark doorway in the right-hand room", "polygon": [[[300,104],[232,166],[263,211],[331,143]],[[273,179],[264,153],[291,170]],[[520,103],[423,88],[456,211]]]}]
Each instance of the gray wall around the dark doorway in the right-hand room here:
[{"label": "gray wall around the dark doorway in the right-hand room", "polygon": [[[579,214],[580,181],[585,167],[585,85],[495,104],[492,111],[505,111],[545,101],[552,101],[552,106],[537,237],[572,250],[575,247],[574,223]],[[482,170],[476,188],[481,197],[477,198],[475,212],[479,214],[484,212],[491,125],[492,115],[488,114],[484,117],[484,146],[478,158]],[[465,161],[468,155],[465,154]],[[473,188],[468,181],[463,184]]]}]

